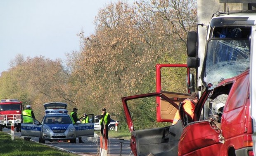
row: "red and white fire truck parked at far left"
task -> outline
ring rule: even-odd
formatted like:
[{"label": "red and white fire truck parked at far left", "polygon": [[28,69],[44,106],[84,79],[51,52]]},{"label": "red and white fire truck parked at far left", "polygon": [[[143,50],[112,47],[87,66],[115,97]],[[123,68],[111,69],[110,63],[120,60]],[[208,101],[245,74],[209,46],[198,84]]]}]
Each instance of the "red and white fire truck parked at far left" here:
[{"label": "red and white fire truck parked at far left", "polygon": [[0,131],[2,128],[14,128],[21,131],[22,101],[18,99],[2,99],[0,102]]}]

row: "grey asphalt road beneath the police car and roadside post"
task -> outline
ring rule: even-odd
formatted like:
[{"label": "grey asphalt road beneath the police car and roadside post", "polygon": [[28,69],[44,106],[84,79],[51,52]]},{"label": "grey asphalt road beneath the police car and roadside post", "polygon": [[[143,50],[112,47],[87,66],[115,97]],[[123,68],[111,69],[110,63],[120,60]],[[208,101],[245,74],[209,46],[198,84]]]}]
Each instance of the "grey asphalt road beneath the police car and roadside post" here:
[{"label": "grey asphalt road beneath the police car and roadside post", "polygon": [[[3,131],[11,134],[10,129],[4,128]],[[14,129],[14,135],[17,137],[21,137],[21,132],[16,132],[16,129]],[[32,138],[31,140],[38,142],[38,138]],[[69,142],[45,141],[45,145],[53,146],[60,150],[69,151],[73,154],[78,154],[82,156],[100,156],[100,137],[98,137],[97,140],[93,138],[82,138],[82,140],[84,141],[84,143],[76,144]],[[124,142],[121,144],[119,142],[119,139],[115,138],[109,138],[108,154],[108,156],[134,156],[130,149],[130,140],[124,140]]]}]

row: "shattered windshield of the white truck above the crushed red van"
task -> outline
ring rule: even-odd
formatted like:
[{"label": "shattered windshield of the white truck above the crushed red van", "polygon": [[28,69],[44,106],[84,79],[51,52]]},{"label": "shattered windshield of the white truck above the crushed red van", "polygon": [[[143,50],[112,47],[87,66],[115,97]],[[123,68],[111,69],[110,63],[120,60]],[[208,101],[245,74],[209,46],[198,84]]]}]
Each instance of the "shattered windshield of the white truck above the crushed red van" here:
[{"label": "shattered windshield of the white truck above the crushed red van", "polygon": [[222,80],[239,75],[250,66],[248,38],[211,38],[207,42],[201,77],[205,85],[218,85]]}]

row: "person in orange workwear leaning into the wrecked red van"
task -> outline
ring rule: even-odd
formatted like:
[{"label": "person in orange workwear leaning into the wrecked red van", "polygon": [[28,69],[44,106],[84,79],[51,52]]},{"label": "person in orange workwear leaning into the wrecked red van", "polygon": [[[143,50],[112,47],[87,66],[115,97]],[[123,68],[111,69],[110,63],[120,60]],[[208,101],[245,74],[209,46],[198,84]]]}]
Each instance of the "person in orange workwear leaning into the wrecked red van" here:
[{"label": "person in orange workwear leaning into the wrecked red van", "polygon": [[[197,92],[193,92],[190,96],[190,99],[185,99],[182,103],[184,103],[183,107],[185,112],[187,112],[193,119],[194,117],[194,109],[197,106],[197,102],[199,100],[199,95]],[[180,119],[180,114],[179,112],[176,112],[174,119],[173,119],[173,124],[176,124]]]}]

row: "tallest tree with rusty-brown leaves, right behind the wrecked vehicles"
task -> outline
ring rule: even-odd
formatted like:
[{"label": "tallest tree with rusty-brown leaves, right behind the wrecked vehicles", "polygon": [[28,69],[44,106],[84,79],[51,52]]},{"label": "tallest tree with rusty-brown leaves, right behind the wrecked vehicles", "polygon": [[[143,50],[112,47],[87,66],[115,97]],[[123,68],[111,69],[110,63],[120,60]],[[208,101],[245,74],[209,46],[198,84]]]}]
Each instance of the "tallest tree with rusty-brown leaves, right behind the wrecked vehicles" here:
[{"label": "tallest tree with rusty-brown leaves, right behind the wrecked vehicles", "polygon": [[117,2],[100,10],[96,33],[80,34],[83,50],[74,72],[84,78],[80,91],[86,99],[118,116],[122,96],[154,91],[156,63],[186,61],[186,34],[196,26],[194,4],[154,0],[130,7]]}]

